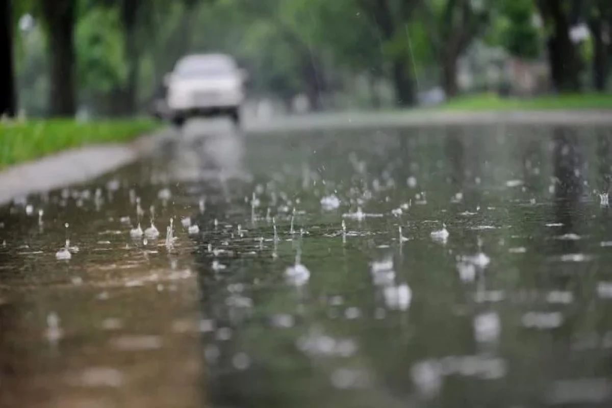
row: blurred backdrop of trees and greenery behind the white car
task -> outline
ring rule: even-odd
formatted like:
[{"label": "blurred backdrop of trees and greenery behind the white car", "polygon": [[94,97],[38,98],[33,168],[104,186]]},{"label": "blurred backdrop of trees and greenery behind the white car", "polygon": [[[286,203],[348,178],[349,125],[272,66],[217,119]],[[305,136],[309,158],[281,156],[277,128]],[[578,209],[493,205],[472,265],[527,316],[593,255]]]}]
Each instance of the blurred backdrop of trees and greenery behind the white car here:
[{"label": "blurred backdrop of trees and greenery behind the white car", "polygon": [[560,92],[588,103],[610,91],[608,0],[0,4],[0,25],[12,28],[0,48],[15,59],[0,58],[2,89],[15,90],[2,106],[29,117],[147,113],[176,60],[200,52],[236,57],[250,75],[245,111],[257,117]]}]

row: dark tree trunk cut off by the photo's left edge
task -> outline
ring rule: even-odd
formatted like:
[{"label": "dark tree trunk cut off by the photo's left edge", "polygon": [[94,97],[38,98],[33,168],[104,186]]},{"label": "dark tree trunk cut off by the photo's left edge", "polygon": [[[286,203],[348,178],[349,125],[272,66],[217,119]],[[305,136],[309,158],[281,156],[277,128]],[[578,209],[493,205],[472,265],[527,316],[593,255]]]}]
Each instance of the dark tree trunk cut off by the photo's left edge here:
[{"label": "dark tree trunk cut off by the photo's left edge", "polygon": [[13,24],[11,0],[0,0],[0,116],[15,116],[15,71],[13,70]]}]

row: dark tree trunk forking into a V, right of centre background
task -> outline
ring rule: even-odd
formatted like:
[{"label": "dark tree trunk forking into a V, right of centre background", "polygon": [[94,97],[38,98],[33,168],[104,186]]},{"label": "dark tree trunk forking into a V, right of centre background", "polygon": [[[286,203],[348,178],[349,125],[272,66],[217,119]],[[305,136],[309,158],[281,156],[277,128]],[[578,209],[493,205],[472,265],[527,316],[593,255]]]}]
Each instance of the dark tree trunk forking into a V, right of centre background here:
[{"label": "dark tree trunk forking into a V, right of centre background", "polygon": [[457,61],[472,40],[482,34],[490,20],[492,2],[482,0],[479,7],[470,0],[422,1],[428,17],[434,53],[442,68],[441,84],[448,97],[458,93]]}]

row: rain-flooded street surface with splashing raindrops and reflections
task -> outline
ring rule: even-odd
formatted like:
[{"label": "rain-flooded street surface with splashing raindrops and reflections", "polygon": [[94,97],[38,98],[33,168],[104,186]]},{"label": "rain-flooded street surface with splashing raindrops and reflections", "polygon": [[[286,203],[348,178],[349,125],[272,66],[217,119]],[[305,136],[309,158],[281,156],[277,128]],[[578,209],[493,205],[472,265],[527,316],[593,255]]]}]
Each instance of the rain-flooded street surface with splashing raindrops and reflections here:
[{"label": "rain-flooded street surface with splashing raindrops and reflections", "polygon": [[0,210],[0,406],[609,406],[611,143],[188,124]]}]

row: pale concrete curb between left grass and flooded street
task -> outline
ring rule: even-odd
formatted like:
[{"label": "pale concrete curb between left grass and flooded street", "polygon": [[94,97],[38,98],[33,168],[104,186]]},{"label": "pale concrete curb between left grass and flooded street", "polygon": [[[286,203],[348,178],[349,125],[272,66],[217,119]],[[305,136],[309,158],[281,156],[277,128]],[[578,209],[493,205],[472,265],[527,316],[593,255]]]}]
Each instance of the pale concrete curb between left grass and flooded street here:
[{"label": "pale concrete curb between left grass and flooded street", "polygon": [[66,150],[0,172],[0,206],[15,198],[85,182],[152,154],[172,130],[163,128],[129,144],[100,144]]}]

